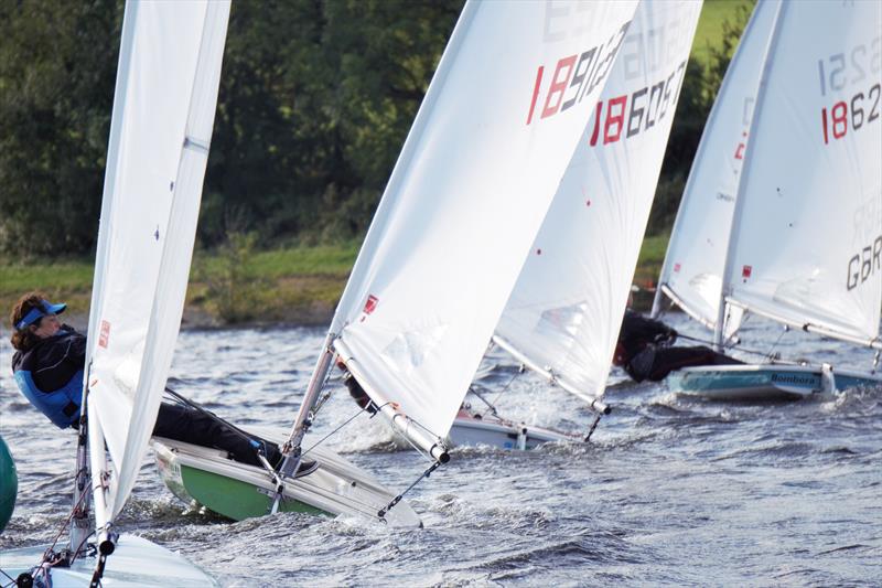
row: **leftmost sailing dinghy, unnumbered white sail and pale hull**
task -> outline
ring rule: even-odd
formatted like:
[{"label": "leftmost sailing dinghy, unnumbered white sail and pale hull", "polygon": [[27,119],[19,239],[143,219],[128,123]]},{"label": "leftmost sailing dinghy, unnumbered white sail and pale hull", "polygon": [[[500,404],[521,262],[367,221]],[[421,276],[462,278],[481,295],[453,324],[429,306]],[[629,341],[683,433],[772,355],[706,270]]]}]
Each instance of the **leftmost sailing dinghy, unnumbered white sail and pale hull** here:
[{"label": "leftmost sailing dinghy, unnumbered white sail and pale hull", "polygon": [[69,543],[58,553],[52,545],[0,555],[20,585],[216,585],[181,555],[120,534],[116,520],[147,451],[181,322],[228,15],[223,0],[126,4]]}]

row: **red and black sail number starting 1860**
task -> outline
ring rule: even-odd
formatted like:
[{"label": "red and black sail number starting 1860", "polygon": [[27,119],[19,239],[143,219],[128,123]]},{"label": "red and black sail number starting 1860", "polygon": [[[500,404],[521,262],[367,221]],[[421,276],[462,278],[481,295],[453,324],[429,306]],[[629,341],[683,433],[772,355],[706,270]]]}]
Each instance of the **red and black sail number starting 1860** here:
[{"label": "red and black sail number starting 1860", "polygon": [[[668,107],[677,101],[685,72],[686,62],[684,61],[667,78],[662,78],[657,84],[644,86],[631,94],[631,110],[628,110],[627,94],[610,98],[606,100],[605,120],[602,120],[604,101],[599,101],[594,111],[594,130],[591,132],[589,145],[591,147],[598,145],[601,127],[603,127],[603,145],[619,141],[623,130],[626,138],[637,135],[641,130],[649,130],[656,121],[665,118]],[[678,78],[676,83],[675,77]]]}]

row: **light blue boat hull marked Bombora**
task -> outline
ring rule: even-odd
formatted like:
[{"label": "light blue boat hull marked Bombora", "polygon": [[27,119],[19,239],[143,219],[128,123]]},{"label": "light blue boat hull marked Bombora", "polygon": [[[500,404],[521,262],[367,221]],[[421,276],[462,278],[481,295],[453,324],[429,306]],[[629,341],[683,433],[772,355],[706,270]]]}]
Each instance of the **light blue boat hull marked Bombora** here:
[{"label": "light blue boat hull marked Bombora", "polygon": [[[882,387],[882,377],[860,372],[832,371],[836,391]],[[685,367],[668,376],[677,393],[719,400],[798,399],[831,392],[825,371],[816,365],[707,365]]]}]

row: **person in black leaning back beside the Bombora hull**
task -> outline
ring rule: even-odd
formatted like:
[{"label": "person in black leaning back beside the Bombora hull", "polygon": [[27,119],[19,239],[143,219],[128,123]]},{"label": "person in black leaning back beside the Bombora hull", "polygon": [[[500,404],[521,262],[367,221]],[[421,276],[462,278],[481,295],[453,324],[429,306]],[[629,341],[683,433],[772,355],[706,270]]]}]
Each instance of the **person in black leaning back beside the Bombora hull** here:
[{"label": "person in black leaning back beside the Bombora hull", "polygon": [[671,346],[677,340],[677,331],[662,321],[641,316],[631,309],[633,303],[633,295],[630,295],[613,363],[624,368],[635,382],[658,382],[675,370],[692,365],[744,363],[703,345]]}]

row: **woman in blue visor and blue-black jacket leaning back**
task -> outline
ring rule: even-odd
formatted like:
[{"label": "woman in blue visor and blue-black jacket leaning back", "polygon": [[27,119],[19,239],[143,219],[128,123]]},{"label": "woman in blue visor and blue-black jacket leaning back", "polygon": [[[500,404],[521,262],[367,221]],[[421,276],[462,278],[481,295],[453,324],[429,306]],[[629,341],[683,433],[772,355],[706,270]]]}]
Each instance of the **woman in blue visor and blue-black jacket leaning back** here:
[{"label": "woman in blue visor and blue-black jacket leaning back", "polygon": [[[22,394],[61,428],[78,427],[86,363],[86,336],[63,324],[58,314],[67,304],[53,304],[45,295],[22,296],[10,314],[12,323],[12,372]],[[155,437],[213,447],[243,463],[260,467],[258,449],[273,467],[281,463],[279,446],[246,435],[211,413],[186,405],[162,403],[153,427]],[[298,475],[314,471],[318,463],[303,461]]]}]

